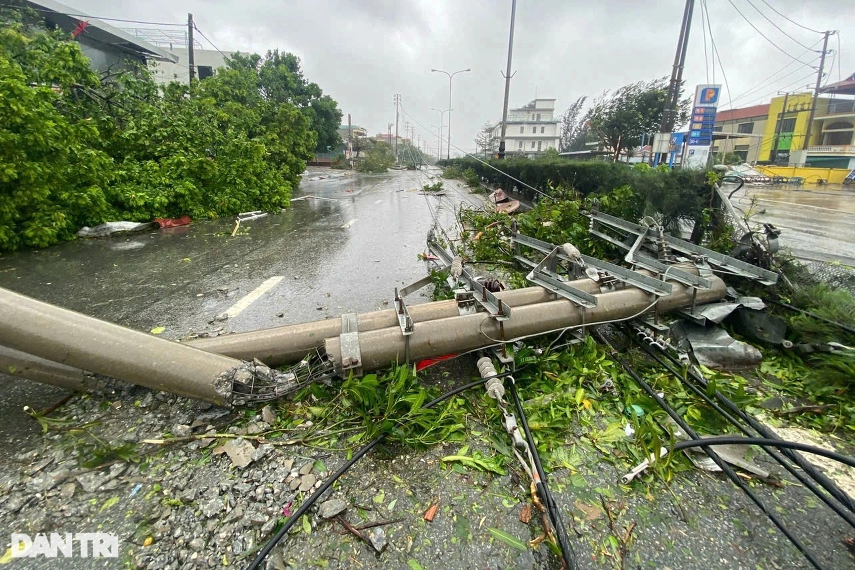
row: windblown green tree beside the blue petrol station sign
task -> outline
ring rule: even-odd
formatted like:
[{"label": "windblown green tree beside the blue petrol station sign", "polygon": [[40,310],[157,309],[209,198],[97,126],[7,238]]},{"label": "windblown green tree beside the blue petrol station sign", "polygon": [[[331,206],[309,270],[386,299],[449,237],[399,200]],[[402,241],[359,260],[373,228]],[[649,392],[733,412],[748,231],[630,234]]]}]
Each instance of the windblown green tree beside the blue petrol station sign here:
[{"label": "windblown green tree beside the blue petrol station sign", "polygon": [[[591,132],[617,161],[621,151],[641,144],[645,133],[658,132],[668,95],[668,79],[653,79],[606,91],[594,100],[587,112]],[[689,117],[690,99],[678,103],[675,124]]]}]

